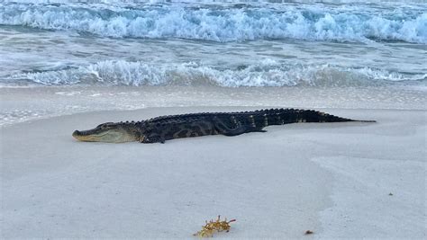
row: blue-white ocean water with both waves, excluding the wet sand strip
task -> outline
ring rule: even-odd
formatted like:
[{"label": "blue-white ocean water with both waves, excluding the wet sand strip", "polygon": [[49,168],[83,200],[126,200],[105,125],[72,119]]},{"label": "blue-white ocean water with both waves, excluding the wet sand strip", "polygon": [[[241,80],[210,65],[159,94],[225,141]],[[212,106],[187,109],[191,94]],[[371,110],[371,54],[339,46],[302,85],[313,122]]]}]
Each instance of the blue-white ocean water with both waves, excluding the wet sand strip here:
[{"label": "blue-white ocean water with both waves, excluding the wet sand strip", "polygon": [[0,1],[0,86],[425,89],[424,1]]}]

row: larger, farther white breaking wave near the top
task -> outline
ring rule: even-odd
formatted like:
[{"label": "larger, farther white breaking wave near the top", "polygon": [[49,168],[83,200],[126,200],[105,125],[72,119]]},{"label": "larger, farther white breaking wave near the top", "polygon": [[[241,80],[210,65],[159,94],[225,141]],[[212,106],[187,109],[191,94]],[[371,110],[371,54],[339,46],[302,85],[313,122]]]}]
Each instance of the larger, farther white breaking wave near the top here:
[{"label": "larger, farther white breaking wave near the top", "polygon": [[400,40],[427,43],[426,9],[2,4],[0,24],[114,38]]}]

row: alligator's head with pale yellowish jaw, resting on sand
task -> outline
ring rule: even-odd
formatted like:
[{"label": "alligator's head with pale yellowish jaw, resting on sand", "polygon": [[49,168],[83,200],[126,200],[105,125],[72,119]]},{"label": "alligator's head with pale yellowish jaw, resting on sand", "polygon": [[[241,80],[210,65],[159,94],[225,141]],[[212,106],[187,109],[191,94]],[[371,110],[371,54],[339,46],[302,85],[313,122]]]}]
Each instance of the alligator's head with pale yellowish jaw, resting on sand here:
[{"label": "alligator's head with pale yellowish jaw, resting on sand", "polygon": [[141,134],[133,123],[105,122],[98,125],[95,129],[85,131],[75,130],[73,137],[85,142],[123,143],[138,141],[141,138]]}]

